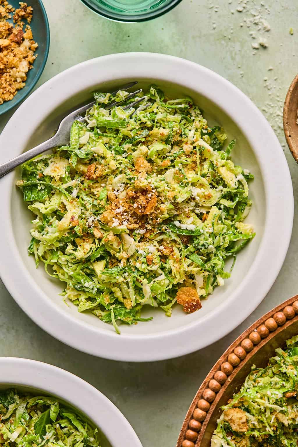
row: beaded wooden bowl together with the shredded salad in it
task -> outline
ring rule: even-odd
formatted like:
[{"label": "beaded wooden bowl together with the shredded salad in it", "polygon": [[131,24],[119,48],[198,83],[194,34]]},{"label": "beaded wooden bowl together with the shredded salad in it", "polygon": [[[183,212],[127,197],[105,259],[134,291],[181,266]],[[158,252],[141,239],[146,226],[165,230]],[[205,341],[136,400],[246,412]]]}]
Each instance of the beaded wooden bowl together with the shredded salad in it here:
[{"label": "beaded wooden bowl together with the shredded salad in it", "polygon": [[257,320],[201,384],[177,447],[296,446],[298,295]]}]

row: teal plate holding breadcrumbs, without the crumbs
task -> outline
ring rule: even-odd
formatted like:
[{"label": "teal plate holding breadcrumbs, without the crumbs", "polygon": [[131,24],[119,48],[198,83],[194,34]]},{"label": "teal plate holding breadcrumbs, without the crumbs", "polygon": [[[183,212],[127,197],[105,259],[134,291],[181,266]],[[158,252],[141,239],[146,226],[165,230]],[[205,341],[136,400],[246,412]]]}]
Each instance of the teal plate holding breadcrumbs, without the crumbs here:
[{"label": "teal plate holding breadcrumbs, without the crumbs", "polygon": [[[20,102],[23,101],[27,95],[29,95],[43,72],[46,65],[46,59],[49,54],[50,28],[45,7],[43,6],[41,0],[25,1],[28,6],[32,6],[33,8],[33,18],[30,26],[32,29],[33,38],[35,42],[38,43],[38,48],[36,50],[36,54],[38,56],[33,63],[33,68],[31,68],[27,74],[25,87],[19,90],[11,101],[5,101],[0,105],[0,115],[8,112],[8,110],[20,104]],[[19,7],[19,2],[17,0],[10,0],[9,4],[12,4],[14,8]],[[9,21],[12,22],[13,20],[11,19]]]}]

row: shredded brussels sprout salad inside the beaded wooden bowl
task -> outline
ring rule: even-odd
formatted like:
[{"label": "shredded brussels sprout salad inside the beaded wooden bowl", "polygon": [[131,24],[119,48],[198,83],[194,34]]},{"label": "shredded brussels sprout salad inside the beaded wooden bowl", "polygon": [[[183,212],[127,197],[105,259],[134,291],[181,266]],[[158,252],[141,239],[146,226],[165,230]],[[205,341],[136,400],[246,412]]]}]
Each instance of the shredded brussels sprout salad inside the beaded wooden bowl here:
[{"label": "shredded brussels sprout salad inside the beaded wooden bowl", "polygon": [[266,368],[252,367],[225,405],[211,447],[296,447],[298,442],[298,335],[277,348]]}]

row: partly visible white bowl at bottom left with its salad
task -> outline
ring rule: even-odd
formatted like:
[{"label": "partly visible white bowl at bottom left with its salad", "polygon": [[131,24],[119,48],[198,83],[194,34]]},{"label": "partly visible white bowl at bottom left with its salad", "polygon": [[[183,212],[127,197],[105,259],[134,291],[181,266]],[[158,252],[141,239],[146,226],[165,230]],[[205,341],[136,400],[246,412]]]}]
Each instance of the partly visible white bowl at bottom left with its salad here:
[{"label": "partly visible white bowl at bottom left with its salad", "polygon": [[3,446],[142,447],[101,392],[35,360],[0,357],[0,415]]}]

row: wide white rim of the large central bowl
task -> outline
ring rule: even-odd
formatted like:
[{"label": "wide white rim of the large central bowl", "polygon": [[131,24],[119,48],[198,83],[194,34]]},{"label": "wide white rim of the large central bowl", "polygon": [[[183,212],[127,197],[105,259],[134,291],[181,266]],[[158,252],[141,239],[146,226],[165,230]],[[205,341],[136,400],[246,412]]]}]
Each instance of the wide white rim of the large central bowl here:
[{"label": "wide white rim of the large central bowl", "polygon": [[[98,67],[97,76],[92,72],[92,67]],[[100,67],[105,67],[105,70],[101,71]],[[75,76],[78,73],[80,76]],[[197,82],[198,76],[200,83]],[[69,78],[72,80],[71,83],[67,82]],[[26,110],[38,108],[42,122],[49,111],[55,109],[57,95],[62,103],[77,92],[90,87],[92,83],[96,85],[108,80],[127,78],[168,80],[197,91],[218,104],[248,139],[262,172],[266,218],[264,234],[255,261],[243,282],[231,292],[228,302],[214,309],[204,320],[194,321],[179,329],[150,335],[118,336],[116,333],[74,319],[46,299],[46,295],[43,296],[43,292],[34,281],[28,278],[9,225],[10,194],[8,193],[13,173],[1,179],[3,217],[0,219],[2,247],[0,268],[1,278],[13,298],[36,324],[52,336],[69,346],[99,357],[146,362],[178,357],[208,346],[235,329],[255,310],[272,287],[284,262],[293,227],[294,197],[290,171],[281,145],[256,105],[235,85],[208,68],[185,59],[157,53],[119,53],[101,56],[68,68],[48,80],[26,99],[8,121],[0,135],[0,161],[7,161],[19,154],[16,147],[11,147],[11,135],[16,132],[17,127],[22,133],[23,141],[28,141],[32,129],[30,130],[30,118],[24,123]],[[53,91],[55,95],[52,95]],[[17,281],[15,281],[16,266]],[[237,299],[237,296],[241,296],[241,300]]]}]

